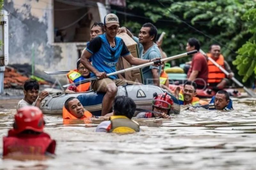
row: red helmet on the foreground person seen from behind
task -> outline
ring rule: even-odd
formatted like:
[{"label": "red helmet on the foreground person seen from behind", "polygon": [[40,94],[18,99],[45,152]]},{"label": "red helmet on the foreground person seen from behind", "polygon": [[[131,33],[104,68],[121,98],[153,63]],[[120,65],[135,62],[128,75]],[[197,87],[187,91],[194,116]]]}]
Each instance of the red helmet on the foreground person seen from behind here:
[{"label": "red helmet on the foreground person seen from behind", "polygon": [[44,119],[42,111],[35,106],[27,106],[20,108],[14,115],[14,131],[20,133],[24,130],[33,130],[43,132]]}]

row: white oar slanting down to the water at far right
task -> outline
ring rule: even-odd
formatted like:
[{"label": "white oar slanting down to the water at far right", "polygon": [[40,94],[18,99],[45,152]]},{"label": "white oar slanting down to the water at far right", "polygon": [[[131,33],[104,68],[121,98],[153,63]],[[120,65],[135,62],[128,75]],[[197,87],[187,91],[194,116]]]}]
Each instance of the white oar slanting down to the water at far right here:
[{"label": "white oar slanting down to the water at far right", "polygon": [[[205,55],[206,57],[208,57],[205,52],[203,50],[199,50],[203,55]],[[229,72],[227,70],[225,70],[223,67],[221,67],[218,63],[216,63],[216,61],[214,61],[211,57],[208,57],[208,60],[210,60],[216,67],[218,67],[224,74],[226,74],[227,76],[229,75]],[[231,80],[233,80],[238,86],[243,87],[244,91],[247,92],[250,96],[252,97],[256,97],[256,94],[246,88],[242,83],[240,83],[235,77],[232,77]]]}]

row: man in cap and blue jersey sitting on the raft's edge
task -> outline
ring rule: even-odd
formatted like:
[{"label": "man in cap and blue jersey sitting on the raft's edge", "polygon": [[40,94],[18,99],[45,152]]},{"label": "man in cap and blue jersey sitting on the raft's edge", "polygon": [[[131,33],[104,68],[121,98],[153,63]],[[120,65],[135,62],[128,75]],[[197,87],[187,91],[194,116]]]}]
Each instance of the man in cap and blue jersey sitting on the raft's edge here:
[{"label": "man in cap and blue jersey sitting on the raft's edge", "polygon": [[[140,65],[151,61],[135,58],[127,49],[124,41],[116,37],[119,20],[115,14],[108,14],[104,18],[105,34],[98,35],[88,44],[81,56],[81,63],[91,71],[91,77],[100,80],[92,81],[91,87],[98,92],[106,92],[102,101],[101,115],[109,113],[117,93],[116,85],[134,84],[131,81],[117,79],[116,75],[107,77],[108,73],[116,71],[116,63],[123,56],[132,65]],[[92,64],[88,61],[92,57]]]}]

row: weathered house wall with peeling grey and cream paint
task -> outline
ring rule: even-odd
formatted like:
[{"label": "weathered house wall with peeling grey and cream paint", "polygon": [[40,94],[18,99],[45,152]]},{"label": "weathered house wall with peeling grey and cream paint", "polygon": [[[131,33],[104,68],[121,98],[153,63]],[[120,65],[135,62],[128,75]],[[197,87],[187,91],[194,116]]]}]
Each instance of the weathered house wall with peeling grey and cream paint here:
[{"label": "weathered house wall with peeling grey and cream paint", "polygon": [[[53,42],[53,0],[5,0],[4,8],[10,12],[9,64],[31,64],[34,50],[36,72],[76,68],[77,45],[86,43]],[[51,77],[67,83],[66,75]]]}]

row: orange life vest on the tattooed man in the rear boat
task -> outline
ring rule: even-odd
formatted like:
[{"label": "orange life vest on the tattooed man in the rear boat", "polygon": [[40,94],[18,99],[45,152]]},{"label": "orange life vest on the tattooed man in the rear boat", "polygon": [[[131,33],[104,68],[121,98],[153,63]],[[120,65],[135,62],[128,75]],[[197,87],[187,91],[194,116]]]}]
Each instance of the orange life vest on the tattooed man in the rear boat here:
[{"label": "orange life vest on the tattooed man in the rear boat", "polygon": [[[207,53],[208,57],[212,57],[212,54]],[[224,68],[224,57],[220,54],[218,60],[216,61],[221,67]],[[225,74],[216,67],[210,60],[208,60],[208,83],[220,83],[220,81],[225,78]]]}]

